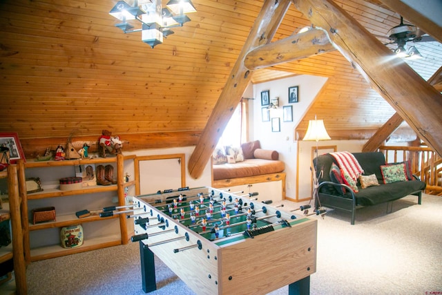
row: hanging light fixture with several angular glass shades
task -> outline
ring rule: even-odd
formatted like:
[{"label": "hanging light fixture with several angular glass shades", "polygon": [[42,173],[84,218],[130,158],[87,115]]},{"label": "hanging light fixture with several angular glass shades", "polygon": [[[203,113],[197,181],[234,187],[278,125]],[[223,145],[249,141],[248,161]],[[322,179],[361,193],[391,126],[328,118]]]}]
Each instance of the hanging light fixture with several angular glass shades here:
[{"label": "hanging light fixture with several angular glass shades", "polygon": [[[191,21],[186,13],[196,12],[191,0],[171,0],[162,8],[161,0],[135,0],[133,6],[126,1],[118,1],[109,12],[110,15],[122,21],[115,26],[128,32],[142,32],[142,41],[151,48],[163,43],[163,37],[172,35],[171,28],[183,26]],[[130,20],[141,23],[141,28],[134,29]]]}]

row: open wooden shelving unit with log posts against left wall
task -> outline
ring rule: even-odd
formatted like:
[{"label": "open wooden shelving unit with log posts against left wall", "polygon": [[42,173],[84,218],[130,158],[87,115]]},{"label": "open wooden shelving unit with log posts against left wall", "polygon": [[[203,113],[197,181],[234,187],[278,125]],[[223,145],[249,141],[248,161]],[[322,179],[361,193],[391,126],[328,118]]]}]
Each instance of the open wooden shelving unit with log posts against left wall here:
[{"label": "open wooden shelving unit with log posts against left wall", "polygon": [[[125,172],[130,172],[130,174],[133,175],[133,171],[124,171],[124,162],[133,159],[135,159],[135,155],[117,155],[116,157],[85,160],[45,162],[28,161],[24,163],[21,182],[26,180],[26,177],[29,177],[29,175],[35,177],[36,173],[44,175],[45,179],[41,180],[41,186],[43,187],[44,191],[25,194],[24,200],[26,202],[26,206],[21,211],[21,214],[29,216],[30,218],[30,211],[33,208],[45,207],[51,203],[57,204],[57,206],[55,206],[55,221],[42,222],[36,225],[33,225],[32,221],[26,222],[25,231],[29,234],[30,240],[28,243],[25,242],[25,256],[28,257],[30,261],[37,261],[126,244],[129,238],[127,218],[124,214],[115,214],[112,217],[106,218],[100,218],[97,215],[88,216],[86,218],[77,218],[77,216],[75,216],[75,211],[79,211],[79,206],[81,206],[82,209],[89,209],[90,211],[100,209],[93,207],[97,206],[97,204],[101,204],[102,207],[124,206],[126,204],[124,189],[126,187],[134,186],[135,184],[135,180],[124,182]],[[88,164],[94,164],[95,166],[99,164],[104,166],[107,164],[113,165],[114,178],[117,180],[117,184],[106,186],[93,185],[70,191],[62,191],[58,187],[54,187],[53,184],[57,182],[58,179],[55,179],[52,175],[57,175],[58,177],[59,175],[66,174],[66,171],[74,171],[74,167],[77,165]],[[72,170],[70,170],[70,167],[73,167]],[[45,172],[51,173],[51,175],[48,175]],[[45,187],[47,182],[51,182],[52,185]],[[117,203],[112,202],[112,197],[115,195],[117,196]],[[70,209],[69,204],[75,204],[77,209]],[[104,234],[99,232],[99,227],[114,229],[115,220],[119,220],[119,222],[117,222],[119,223],[119,229],[113,230],[111,233],[108,231],[105,231]],[[82,225],[84,230],[83,245],[74,248],[61,247],[59,242],[59,234],[55,236],[53,229],[73,225]],[[50,231],[51,229],[52,231]],[[50,237],[50,242],[47,242],[48,245],[45,244],[46,241],[43,241],[44,245],[40,245],[40,234],[32,234],[37,233],[37,231],[45,232],[46,236]],[[90,234],[88,234],[88,231]]]}]

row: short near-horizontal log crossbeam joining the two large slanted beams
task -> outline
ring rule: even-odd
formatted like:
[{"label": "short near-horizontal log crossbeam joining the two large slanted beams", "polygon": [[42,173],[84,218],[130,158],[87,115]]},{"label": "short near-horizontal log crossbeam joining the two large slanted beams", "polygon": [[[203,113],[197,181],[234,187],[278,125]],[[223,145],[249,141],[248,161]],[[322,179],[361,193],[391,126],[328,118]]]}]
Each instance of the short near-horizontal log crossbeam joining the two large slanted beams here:
[{"label": "short near-horizontal log crossbeam joining the two large slanted beams", "polygon": [[249,70],[283,64],[336,50],[323,30],[311,29],[251,50],[244,59]]}]

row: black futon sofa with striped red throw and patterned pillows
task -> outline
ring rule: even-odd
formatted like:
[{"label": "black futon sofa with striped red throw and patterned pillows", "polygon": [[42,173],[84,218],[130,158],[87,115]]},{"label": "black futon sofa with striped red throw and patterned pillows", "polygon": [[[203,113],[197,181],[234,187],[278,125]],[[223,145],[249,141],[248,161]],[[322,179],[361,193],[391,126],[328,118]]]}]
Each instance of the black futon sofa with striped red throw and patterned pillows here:
[{"label": "black futon sofa with striped red throw and patterned pillows", "polygon": [[318,204],[351,212],[352,225],[357,207],[386,202],[388,212],[388,206],[392,205],[390,202],[408,195],[417,196],[418,204],[421,204],[421,193],[425,189],[425,182],[412,174],[410,162],[387,164],[381,152],[352,153],[352,155],[363,169],[363,174],[359,176],[356,185],[347,182],[342,170],[336,171],[338,161],[331,154],[319,155],[314,159],[319,183]]}]

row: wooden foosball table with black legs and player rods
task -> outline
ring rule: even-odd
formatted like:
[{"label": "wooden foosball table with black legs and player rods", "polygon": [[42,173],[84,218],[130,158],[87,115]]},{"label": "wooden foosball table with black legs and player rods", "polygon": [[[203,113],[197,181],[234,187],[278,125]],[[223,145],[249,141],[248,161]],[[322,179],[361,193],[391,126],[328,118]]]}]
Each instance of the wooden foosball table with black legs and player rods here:
[{"label": "wooden foosball table with black legs and player rods", "polygon": [[156,289],[154,254],[196,294],[309,292],[317,220],[201,187],[133,197],[144,292]]}]

